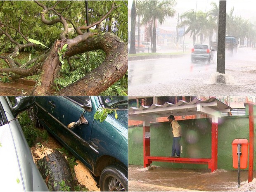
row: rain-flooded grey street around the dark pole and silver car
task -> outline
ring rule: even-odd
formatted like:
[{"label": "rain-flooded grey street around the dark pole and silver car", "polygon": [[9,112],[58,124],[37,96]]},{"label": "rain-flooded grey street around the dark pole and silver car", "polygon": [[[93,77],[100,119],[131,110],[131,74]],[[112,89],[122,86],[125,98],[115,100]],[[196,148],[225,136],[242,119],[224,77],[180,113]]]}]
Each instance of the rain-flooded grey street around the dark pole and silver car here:
[{"label": "rain-flooded grey street around the dark pole and silver car", "polygon": [[129,61],[129,95],[255,95],[256,50],[239,48],[225,62],[226,84],[217,84],[216,59],[191,63],[190,54],[172,59]]}]

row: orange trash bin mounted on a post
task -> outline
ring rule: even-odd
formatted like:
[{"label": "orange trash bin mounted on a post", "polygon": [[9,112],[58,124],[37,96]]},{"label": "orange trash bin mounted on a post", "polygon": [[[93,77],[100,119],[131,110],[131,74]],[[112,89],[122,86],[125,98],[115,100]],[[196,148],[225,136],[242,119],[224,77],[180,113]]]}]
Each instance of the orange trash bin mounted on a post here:
[{"label": "orange trash bin mounted on a post", "polygon": [[238,168],[238,155],[237,155],[237,144],[241,144],[241,156],[240,156],[240,168],[247,168],[248,161],[248,146],[249,142],[247,139],[235,139],[232,142],[232,156],[233,156],[233,167]]}]

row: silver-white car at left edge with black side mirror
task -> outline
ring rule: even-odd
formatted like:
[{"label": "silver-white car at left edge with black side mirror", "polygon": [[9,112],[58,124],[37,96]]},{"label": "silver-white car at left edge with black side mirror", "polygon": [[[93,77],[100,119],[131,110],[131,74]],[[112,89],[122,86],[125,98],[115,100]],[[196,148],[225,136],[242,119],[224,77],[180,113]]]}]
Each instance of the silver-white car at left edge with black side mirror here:
[{"label": "silver-white car at left edge with black side mirror", "polygon": [[31,107],[34,97],[0,97],[0,181],[2,191],[48,191],[21,129],[17,114]]}]

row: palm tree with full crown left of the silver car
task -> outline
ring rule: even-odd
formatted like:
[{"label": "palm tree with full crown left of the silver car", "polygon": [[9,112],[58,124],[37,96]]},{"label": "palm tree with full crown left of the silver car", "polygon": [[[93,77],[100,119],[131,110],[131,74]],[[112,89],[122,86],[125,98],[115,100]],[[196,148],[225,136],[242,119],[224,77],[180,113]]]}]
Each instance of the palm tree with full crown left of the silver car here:
[{"label": "palm tree with full crown left of the silver car", "polygon": [[173,7],[176,5],[175,0],[164,0],[164,1],[143,1],[144,10],[143,12],[143,24],[153,24],[152,30],[152,52],[156,52],[156,22],[163,24],[166,17],[173,17],[175,10]]}]

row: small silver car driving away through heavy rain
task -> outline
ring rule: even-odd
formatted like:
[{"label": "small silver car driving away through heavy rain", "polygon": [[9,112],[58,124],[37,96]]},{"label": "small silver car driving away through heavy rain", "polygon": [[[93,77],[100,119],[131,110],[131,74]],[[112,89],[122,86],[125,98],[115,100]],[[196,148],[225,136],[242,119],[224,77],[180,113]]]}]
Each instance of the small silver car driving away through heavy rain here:
[{"label": "small silver car driving away through heavy rain", "polygon": [[196,60],[207,61],[210,63],[214,57],[214,51],[211,45],[206,44],[194,44],[194,47],[191,50],[191,62]]}]

